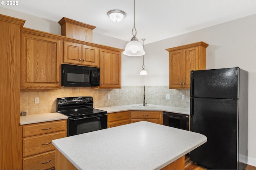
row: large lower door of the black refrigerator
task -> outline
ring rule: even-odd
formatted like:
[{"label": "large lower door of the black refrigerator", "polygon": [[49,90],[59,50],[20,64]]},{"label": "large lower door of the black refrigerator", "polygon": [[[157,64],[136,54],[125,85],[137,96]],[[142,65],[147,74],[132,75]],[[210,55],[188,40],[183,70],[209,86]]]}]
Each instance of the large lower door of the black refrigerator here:
[{"label": "large lower door of the black refrigerator", "polygon": [[207,142],[190,152],[190,160],[212,169],[237,168],[238,100],[192,98],[190,131]]}]

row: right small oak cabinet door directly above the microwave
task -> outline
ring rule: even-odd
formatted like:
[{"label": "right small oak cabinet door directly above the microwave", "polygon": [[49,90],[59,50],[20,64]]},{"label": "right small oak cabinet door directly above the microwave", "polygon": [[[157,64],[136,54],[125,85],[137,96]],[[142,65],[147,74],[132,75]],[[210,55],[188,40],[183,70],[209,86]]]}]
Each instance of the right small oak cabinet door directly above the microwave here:
[{"label": "right small oak cabinet door directly above the microwave", "polygon": [[100,67],[100,49],[82,45],[82,64]]}]

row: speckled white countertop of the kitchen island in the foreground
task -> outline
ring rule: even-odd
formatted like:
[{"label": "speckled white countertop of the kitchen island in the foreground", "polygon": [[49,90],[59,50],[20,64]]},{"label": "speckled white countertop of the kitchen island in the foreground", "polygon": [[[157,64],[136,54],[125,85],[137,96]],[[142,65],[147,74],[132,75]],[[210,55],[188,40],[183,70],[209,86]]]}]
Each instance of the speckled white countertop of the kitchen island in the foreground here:
[{"label": "speckled white countertop of the kitchen island in the foreground", "polygon": [[161,169],[206,141],[199,133],[140,121],[52,144],[78,169]]}]

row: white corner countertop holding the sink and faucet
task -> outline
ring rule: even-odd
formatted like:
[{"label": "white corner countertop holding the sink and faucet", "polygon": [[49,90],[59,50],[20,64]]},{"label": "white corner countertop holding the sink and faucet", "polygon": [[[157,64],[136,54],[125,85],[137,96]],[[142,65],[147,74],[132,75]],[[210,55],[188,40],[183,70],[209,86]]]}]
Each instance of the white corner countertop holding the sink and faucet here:
[{"label": "white corner countertop holding the sink and faucet", "polygon": [[108,113],[114,113],[118,111],[129,111],[129,110],[157,110],[157,111],[167,111],[172,113],[181,113],[185,115],[190,115],[190,108],[184,107],[173,107],[173,106],[163,106],[148,104],[148,106],[142,106],[143,104],[131,104],[122,106],[112,106],[112,107],[99,107],[96,109],[107,111]]}]

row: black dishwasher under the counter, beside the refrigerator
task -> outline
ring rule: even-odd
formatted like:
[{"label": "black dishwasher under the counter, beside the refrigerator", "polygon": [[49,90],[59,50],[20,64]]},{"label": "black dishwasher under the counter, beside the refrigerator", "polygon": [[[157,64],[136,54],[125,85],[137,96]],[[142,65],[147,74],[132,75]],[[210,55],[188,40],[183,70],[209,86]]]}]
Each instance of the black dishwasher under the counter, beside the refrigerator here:
[{"label": "black dishwasher under the counter, beside the refrigerator", "polygon": [[189,115],[163,111],[163,125],[189,130]]}]

